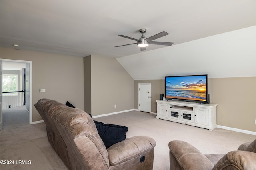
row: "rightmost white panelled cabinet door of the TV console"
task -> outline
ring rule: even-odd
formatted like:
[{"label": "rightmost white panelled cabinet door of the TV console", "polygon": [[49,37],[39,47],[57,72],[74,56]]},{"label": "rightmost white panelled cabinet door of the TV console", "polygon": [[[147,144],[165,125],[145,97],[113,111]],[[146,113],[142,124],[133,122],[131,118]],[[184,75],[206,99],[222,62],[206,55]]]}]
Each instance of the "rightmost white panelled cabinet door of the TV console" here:
[{"label": "rightmost white panelled cabinet door of the TV console", "polygon": [[209,109],[194,108],[194,120],[196,124],[209,125]]}]

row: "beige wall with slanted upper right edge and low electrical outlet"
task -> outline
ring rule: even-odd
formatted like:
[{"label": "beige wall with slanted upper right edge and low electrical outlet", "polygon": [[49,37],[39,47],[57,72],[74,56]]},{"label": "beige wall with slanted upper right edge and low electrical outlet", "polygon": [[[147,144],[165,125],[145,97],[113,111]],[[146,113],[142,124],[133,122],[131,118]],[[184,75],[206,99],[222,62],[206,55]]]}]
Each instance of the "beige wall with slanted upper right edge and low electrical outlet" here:
[{"label": "beige wall with slanted upper right edge and low electrical outlet", "polygon": [[92,116],[134,109],[134,80],[116,59],[91,55],[91,95]]}]

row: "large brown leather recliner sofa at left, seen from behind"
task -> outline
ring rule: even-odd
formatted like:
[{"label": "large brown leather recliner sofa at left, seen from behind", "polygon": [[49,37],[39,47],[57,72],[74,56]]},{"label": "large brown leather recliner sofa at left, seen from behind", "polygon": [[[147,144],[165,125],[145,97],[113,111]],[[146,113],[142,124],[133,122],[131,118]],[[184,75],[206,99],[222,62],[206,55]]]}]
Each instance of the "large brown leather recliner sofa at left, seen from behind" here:
[{"label": "large brown leather recliner sofa at left, seen from behind", "polygon": [[152,170],[155,140],[134,136],[106,149],[92,118],[55,100],[35,104],[48,141],[70,170]]}]

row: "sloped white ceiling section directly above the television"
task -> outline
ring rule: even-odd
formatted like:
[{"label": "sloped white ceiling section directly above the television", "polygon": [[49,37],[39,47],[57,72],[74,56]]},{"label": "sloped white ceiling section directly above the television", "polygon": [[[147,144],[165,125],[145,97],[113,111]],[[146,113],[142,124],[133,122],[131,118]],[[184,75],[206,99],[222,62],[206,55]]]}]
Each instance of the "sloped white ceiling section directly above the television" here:
[{"label": "sloped white ceiling section directly above the television", "polygon": [[256,26],[117,58],[134,80],[256,77]]}]

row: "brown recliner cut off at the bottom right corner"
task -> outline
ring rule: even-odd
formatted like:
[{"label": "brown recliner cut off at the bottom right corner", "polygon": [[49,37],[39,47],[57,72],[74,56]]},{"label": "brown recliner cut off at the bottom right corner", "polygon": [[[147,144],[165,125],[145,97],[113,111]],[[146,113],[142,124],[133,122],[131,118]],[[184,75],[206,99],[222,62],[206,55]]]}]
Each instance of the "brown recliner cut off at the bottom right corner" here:
[{"label": "brown recliner cut off at the bottom right corner", "polygon": [[169,142],[169,149],[170,170],[256,170],[256,139],[226,155],[204,155],[180,140]]}]

